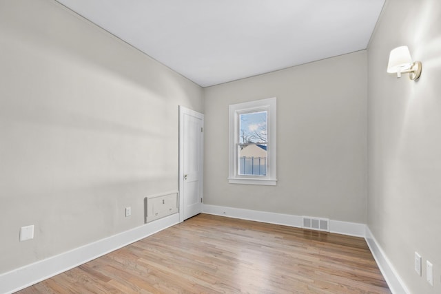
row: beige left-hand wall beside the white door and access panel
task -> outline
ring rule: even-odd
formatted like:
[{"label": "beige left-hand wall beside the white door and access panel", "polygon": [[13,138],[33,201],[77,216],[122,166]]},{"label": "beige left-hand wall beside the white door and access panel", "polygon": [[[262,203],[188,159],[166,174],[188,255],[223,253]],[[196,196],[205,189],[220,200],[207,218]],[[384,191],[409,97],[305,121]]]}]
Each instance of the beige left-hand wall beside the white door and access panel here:
[{"label": "beige left-hand wall beside the white door and access panel", "polygon": [[55,1],[0,1],[0,273],[142,225],[202,94]]}]

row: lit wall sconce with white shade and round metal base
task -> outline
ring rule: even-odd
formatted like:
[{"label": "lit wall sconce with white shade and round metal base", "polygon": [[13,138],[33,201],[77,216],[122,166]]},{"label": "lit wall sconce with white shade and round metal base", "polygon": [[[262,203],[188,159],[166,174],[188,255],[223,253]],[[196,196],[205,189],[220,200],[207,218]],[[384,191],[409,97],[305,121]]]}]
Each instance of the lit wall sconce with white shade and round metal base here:
[{"label": "lit wall sconce with white shade and round metal base", "polygon": [[391,51],[387,72],[397,74],[397,78],[401,78],[401,74],[409,74],[411,80],[418,80],[421,74],[421,61],[412,62],[409,48],[400,46]]}]

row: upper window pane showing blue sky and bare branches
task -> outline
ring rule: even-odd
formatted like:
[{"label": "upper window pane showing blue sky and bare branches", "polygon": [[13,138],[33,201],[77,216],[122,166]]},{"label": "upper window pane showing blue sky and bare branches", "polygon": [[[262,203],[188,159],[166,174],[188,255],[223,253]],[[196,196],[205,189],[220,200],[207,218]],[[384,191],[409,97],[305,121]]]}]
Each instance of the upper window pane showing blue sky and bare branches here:
[{"label": "upper window pane showing blue sky and bare branches", "polygon": [[239,114],[239,143],[267,142],[268,112],[251,112]]}]

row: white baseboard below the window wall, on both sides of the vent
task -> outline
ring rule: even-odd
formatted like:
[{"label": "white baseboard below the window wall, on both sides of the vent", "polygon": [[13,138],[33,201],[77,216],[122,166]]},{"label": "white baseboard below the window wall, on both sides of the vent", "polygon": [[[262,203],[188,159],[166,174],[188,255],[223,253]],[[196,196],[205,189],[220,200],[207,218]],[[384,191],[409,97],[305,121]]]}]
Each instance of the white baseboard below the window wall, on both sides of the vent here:
[{"label": "white baseboard below the window wall, on both sides of the vent", "polygon": [[[203,204],[203,212],[214,214],[216,216],[227,216],[229,218],[240,218],[243,220],[255,220],[256,222],[268,222],[270,224],[282,224],[289,227],[302,227],[302,216],[291,214],[273,213],[266,211],[256,211],[249,209],[238,209],[232,207],[220,207],[216,205]],[[329,229],[331,233],[342,235],[353,235],[356,237],[365,237],[365,224],[356,222],[342,222],[340,220],[329,220]]]}]

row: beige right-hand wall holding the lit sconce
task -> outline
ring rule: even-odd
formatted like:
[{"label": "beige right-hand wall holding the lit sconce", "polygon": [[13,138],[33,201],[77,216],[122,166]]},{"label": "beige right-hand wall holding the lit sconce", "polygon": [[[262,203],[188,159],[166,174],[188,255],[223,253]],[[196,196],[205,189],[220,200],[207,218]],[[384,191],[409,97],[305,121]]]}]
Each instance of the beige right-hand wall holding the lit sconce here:
[{"label": "beige right-hand wall holding the lit sconce", "polygon": [[[386,73],[408,45],[420,81]],[[368,48],[368,224],[411,293],[441,293],[441,2],[389,0]],[[413,253],[423,258],[423,276]],[[433,263],[434,286],[425,281]]]}]

